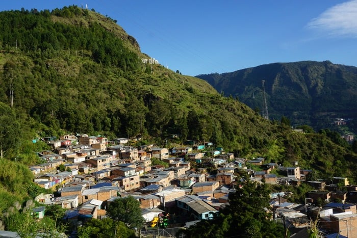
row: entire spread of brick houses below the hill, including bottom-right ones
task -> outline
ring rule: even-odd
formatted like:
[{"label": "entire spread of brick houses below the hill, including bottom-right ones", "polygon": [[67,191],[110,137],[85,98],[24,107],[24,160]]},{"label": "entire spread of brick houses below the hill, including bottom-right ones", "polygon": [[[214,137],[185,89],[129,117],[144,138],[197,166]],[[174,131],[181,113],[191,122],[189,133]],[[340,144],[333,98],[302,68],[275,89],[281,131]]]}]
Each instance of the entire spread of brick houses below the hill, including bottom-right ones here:
[{"label": "entire spread of brick houses below the hill, including bottom-right ones", "polygon": [[[75,223],[87,218],[103,218],[112,201],[133,196],[140,202],[142,216],[148,223],[160,214],[170,214],[170,223],[190,224],[190,221],[212,219],[227,203],[228,194],[234,192],[238,169],[245,170],[253,181],[294,186],[298,186],[311,172],[300,170],[297,162],[294,167],[284,168],[275,163],[265,163],[262,157],[250,161],[235,158],[232,153],[224,153],[222,148],[203,151],[205,145],[180,146],[170,150],[152,145],[132,147],[126,145],[128,140],[125,138],[108,142],[107,138],[88,135],[44,140],[52,150],[41,151],[39,156],[43,163],[30,169],[39,186],[57,190],[60,196],[41,194],[36,200],[44,205],[59,204],[67,208],[65,219]],[[168,166],[152,165],[152,158]],[[200,167],[191,168],[191,163]],[[66,170],[58,171],[60,165],[64,165]],[[258,167],[261,169],[252,169]],[[284,176],[271,173],[276,169]],[[346,178],[334,179],[334,184],[343,182],[349,186]],[[327,203],[334,198],[341,199],[341,204],[357,201],[357,187],[349,186],[349,191],[340,192],[334,184],[309,183],[316,188],[308,195],[309,204],[288,203],[283,196],[272,197],[274,219],[284,218],[291,227],[306,227],[310,221],[308,211],[314,210],[312,201],[320,199]],[[320,217],[324,217],[326,230],[340,235],[345,235],[344,231],[350,232],[348,237],[354,237],[351,236],[353,231],[357,234],[357,226],[353,225],[354,219],[357,222],[355,208],[354,213],[352,209],[340,214],[335,208],[323,210],[328,211],[318,212]],[[347,226],[345,230],[343,224]]]}]

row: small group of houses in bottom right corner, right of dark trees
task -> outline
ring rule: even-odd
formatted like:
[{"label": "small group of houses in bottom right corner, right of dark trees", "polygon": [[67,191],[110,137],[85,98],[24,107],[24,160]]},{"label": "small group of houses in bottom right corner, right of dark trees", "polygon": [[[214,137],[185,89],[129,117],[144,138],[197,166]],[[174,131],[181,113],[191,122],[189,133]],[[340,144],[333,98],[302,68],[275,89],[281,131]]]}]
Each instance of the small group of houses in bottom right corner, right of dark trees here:
[{"label": "small group of houses in bottom right corner, right of dark trees", "polygon": [[[347,186],[349,191],[357,192],[356,186]],[[333,202],[334,198],[346,198],[348,192],[311,191],[305,204],[295,204],[285,199],[284,193],[270,200],[273,219],[282,222],[291,231],[290,237],[309,237],[312,220],[319,230],[319,237],[357,237],[357,212],[355,203]],[[275,194],[278,195],[278,194]],[[323,199],[323,205],[314,205]],[[311,220],[312,219],[312,220]]]}]

